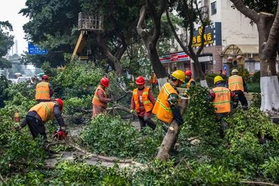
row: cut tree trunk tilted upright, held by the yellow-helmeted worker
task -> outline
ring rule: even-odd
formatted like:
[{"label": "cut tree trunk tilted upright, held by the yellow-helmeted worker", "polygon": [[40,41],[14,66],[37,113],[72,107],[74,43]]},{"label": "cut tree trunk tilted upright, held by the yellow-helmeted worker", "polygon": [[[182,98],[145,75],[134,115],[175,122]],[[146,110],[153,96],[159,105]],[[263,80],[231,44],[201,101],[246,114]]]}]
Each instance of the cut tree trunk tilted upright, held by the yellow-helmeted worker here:
[{"label": "cut tree trunk tilted upright, held by the yellow-helmeted worker", "polygon": [[[188,106],[188,99],[186,98],[180,99],[179,107],[180,107],[181,115],[183,115],[187,106]],[[169,159],[169,151],[172,150],[172,148],[174,148],[178,136],[179,136],[179,125],[176,123],[176,120],[173,120],[169,126],[169,129],[167,130],[167,134],[165,135],[163,142],[160,145],[159,152],[156,156],[157,159],[160,159],[161,161],[167,161],[167,159]]]}]

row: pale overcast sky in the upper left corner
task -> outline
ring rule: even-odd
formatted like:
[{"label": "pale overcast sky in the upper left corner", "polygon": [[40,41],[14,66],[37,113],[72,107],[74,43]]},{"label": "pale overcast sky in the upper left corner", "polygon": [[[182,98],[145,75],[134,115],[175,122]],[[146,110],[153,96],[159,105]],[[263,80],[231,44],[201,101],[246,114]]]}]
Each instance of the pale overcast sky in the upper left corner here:
[{"label": "pale overcast sky in the upper left corner", "polygon": [[24,31],[22,26],[28,22],[28,18],[22,14],[18,14],[20,9],[24,8],[26,0],[0,0],[0,21],[8,20],[13,25],[12,34],[18,42],[18,51],[22,54],[23,50],[27,50],[27,41],[24,40]]}]

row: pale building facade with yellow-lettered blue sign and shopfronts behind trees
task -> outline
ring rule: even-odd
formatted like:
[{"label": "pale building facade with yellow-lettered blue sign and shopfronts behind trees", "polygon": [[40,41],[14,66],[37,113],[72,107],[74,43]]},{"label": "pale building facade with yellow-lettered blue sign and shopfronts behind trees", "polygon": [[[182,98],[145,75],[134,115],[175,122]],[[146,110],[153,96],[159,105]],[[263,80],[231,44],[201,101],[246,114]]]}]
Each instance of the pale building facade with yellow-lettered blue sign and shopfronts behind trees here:
[{"label": "pale building facade with yellow-lettered blue sign and shopfronts behind trees", "polygon": [[[204,73],[220,73],[221,70],[229,72],[234,66],[248,67],[250,71],[259,70],[258,57],[258,32],[255,24],[250,24],[251,20],[245,17],[238,10],[232,8],[232,2],[229,0],[202,0],[201,8],[211,20],[211,25],[205,28],[204,38],[205,46],[202,54],[199,56],[199,62],[202,65]],[[201,41],[201,27],[196,25],[193,36],[193,46],[198,47]],[[185,45],[189,40],[188,33],[183,28],[177,32],[183,39]],[[173,39],[170,41],[172,49],[167,55],[182,53],[180,45]],[[229,60],[228,60],[229,58]],[[164,59],[164,55],[160,57]],[[193,69],[193,63],[190,63],[190,69]],[[185,71],[189,65],[181,66],[179,61],[173,59],[168,62],[161,60],[168,66],[176,66],[176,69]],[[174,65],[176,63],[176,65]],[[179,67],[179,68],[178,68]],[[174,67],[171,69],[174,70]],[[170,69],[168,69],[170,71]],[[227,73],[227,76],[229,74]]]}]

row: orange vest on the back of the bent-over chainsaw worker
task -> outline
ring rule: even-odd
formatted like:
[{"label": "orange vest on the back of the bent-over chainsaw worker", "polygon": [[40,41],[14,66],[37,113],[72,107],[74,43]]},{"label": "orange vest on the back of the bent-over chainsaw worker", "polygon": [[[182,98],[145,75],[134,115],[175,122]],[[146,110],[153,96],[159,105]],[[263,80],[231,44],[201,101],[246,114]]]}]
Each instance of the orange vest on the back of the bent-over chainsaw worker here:
[{"label": "orange vest on the back of the bent-over chainsaw worker", "polygon": [[47,122],[48,120],[52,120],[54,118],[54,109],[55,103],[52,101],[49,102],[41,102],[36,104],[36,106],[33,106],[29,112],[36,111],[38,115],[40,115],[40,118],[43,122]]}]

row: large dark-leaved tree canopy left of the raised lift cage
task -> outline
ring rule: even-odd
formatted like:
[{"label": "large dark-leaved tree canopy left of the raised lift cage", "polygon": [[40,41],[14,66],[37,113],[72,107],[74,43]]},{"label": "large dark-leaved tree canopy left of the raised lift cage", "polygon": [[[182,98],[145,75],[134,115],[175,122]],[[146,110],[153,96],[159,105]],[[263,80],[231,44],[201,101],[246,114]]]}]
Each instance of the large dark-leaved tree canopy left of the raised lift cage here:
[{"label": "large dark-leaved tree canopy left of the raised lift cage", "polygon": [[75,0],[27,0],[20,10],[29,17],[23,29],[28,41],[47,48],[47,55],[24,55],[25,62],[40,67],[44,62],[52,66],[64,64],[63,53],[73,52],[77,40],[77,16],[80,1]]}]

